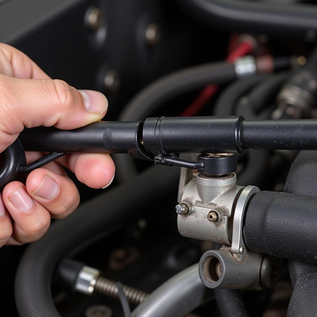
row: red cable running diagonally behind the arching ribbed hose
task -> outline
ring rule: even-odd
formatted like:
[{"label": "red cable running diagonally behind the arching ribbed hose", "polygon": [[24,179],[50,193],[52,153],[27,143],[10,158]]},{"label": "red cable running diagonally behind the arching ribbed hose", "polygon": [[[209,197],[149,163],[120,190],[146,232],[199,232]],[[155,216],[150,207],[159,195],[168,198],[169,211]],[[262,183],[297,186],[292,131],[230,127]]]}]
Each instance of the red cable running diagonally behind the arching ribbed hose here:
[{"label": "red cable running diagonally behind the arching ribbed hose", "polygon": [[[236,58],[249,54],[253,47],[249,42],[242,42],[237,46],[226,58],[226,61],[232,63]],[[219,86],[215,84],[207,85],[196,97],[191,104],[182,111],[180,114],[182,117],[195,116],[210,100],[210,98],[217,92]]]}]

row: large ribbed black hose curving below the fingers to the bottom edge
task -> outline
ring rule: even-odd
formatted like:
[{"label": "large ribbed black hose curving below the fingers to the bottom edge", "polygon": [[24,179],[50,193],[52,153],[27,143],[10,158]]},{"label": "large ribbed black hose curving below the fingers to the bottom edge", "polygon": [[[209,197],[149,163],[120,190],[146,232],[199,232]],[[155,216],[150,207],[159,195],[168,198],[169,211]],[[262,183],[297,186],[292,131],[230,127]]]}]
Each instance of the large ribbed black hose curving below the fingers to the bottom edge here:
[{"label": "large ribbed black hose curving below the fingers to the bottom edge", "polygon": [[178,168],[154,166],[137,178],[114,187],[72,215],[58,220],[25,251],[16,273],[15,298],[21,317],[59,317],[51,283],[61,258],[109,228],[139,217],[148,204],[158,204],[178,186]]}]

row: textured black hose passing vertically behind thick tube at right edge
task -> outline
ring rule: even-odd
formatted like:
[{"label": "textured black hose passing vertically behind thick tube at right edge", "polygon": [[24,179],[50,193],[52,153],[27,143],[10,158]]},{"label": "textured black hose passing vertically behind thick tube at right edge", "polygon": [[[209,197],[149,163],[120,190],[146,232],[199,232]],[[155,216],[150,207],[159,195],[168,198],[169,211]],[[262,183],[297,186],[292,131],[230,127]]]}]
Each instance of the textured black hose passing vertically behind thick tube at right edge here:
[{"label": "textured black hose passing vertically behind thick tube at right edge", "polygon": [[[317,197],[316,151],[301,151],[298,154],[288,173],[284,190],[290,193]],[[315,211],[317,212],[316,209]],[[310,211],[304,210],[303,217],[308,212]],[[300,215],[299,221],[301,221]],[[316,222],[314,224],[316,226]],[[316,252],[316,236],[314,241],[314,251]],[[303,247],[306,246],[303,245]],[[289,261],[289,272],[293,284],[293,293],[288,305],[288,317],[316,316],[317,266]]]}]

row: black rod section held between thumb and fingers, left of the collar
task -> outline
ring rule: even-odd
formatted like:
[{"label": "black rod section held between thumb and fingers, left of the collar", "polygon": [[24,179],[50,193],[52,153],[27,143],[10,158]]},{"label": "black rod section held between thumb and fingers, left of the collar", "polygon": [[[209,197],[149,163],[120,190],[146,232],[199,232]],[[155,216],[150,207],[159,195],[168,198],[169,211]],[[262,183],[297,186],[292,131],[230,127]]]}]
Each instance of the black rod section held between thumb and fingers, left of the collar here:
[{"label": "black rod section held between thumb and fingers, left of the collar", "polygon": [[49,152],[131,153],[138,152],[142,122],[95,122],[74,130],[25,129],[19,139],[25,150]]}]

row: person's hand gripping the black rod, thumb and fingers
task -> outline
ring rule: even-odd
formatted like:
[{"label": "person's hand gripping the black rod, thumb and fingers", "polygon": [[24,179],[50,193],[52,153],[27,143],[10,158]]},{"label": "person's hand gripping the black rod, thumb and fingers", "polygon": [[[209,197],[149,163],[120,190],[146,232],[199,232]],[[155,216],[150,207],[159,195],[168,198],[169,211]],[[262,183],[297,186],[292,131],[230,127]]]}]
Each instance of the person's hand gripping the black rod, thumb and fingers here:
[{"label": "person's hand gripping the black rod, thumb and fingers", "polygon": [[[53,80],[24,53],[0,43],[0,152],[24,127],[78,128],[101,120],[107,106],[103,94]],[[30,163],[43,154],[26,156]],[[79,193],[63,166],[92,188],[111,184],[115,171],[108,154],[69,154],[32,171],[25,185],[7,184],[0,194],[0,246],[36,241],[51,217],[63,218],[76,209]]]}]

